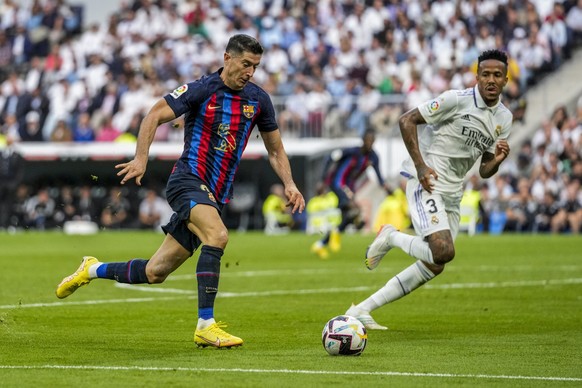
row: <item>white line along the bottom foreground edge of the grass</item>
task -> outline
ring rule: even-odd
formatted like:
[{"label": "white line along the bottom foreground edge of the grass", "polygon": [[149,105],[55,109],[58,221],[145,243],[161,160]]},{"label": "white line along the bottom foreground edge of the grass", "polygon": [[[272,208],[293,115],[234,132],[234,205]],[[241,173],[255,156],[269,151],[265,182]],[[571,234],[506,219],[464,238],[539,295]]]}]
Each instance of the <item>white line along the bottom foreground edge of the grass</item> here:
[{"label": "white line along the bottom foreground edge of the grass", "polygon": [[231,372],[231,373],[266,373],[266,374],[304,374],[304,375],[356,375],[356,376],[404,376],[404,377],[438,377],[466,379],[497,379],[497,380],[542,380],[542,381],[582,381],[580,377],[555,376],[512,376],[485,374],[455,374],[455,373],[420,373],[420,372],[351,372],[305,369],[243,369],[243,368],[184,368],[184,367],[143,367],[143,366],[91,366],[91,365],[0,365],[0,369],[80,369],[80,370],[121,370],[121,371],[153,371],[153,372]]}]

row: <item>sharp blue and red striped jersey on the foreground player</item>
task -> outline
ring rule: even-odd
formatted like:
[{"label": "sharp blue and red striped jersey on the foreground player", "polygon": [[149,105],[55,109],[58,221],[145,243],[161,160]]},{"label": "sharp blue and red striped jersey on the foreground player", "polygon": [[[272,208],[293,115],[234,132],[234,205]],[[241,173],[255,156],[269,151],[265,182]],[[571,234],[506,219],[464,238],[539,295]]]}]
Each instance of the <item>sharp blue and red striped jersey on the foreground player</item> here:
[{"label": "sharp blue and red striped jersey on the foreground player", "polygon": [[233,90],[217,72],[182,85],[164,96],[176,117],[184,116],[184,151],[172,173],[202,179],[220,203],[232,197],[234,176],[255,125],[259,131],[278,128],[269,95],[247,83]]}]

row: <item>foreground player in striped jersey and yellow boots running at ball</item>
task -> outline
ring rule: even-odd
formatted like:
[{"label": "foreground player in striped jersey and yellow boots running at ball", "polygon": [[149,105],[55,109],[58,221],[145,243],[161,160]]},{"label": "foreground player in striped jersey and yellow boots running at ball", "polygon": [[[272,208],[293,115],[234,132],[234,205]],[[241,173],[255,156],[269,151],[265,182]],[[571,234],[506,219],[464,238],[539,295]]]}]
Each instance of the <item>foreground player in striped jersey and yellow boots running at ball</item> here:
[{"label": "foreground player in striped jersey and yellow boots running at ball", "polygon": [[124,184],[141,185],[149,148],[157,127],[185,116],[184,151],[168,179],[166,196],[174,214],[163,227],[166,237],[149,260],[102,263],[86,256],[79,269],[63,279],[57,296],[65,298],[95,278],[122,283],[162,283],[202,245],[196,266],[198,323],[194,342],[199,346],[232,347],[243,343],[214,319],[220,260],[228,230],[220,213],[229,202],[233,182],[251,131],[258,127],[269,162],[285,187],[292,212],[305,208],[293,181],[281,141],[275,110],[268,94],[250,82],[263,54],[260,43],[248,35],[230,38],[224,67],[182,85],[160,99],[143,119],[133,160],[116,166]]}]

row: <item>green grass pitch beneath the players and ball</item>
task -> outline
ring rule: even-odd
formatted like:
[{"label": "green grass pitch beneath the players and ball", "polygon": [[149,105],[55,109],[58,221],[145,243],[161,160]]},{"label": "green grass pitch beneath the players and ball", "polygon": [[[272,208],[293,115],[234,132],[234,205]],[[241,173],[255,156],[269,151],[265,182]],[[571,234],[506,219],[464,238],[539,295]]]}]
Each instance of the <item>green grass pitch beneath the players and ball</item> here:
[{"label": "green grass pitch beneath the players and ball", "polygon": [[441,276],[373,313],[390,330],[369,332],[360,357],[328,356],[323,325],[412,263],[393,250],[365,269],[372,236],[343,236],[319,260],[313,236],[231,233],[215,312],[245,340],[238,349],[193,343],[198,252],[161,285],[95,280],[54,295],[83,255],[147,258],[162,238],[0,234],[0,385],[582,385],[579,237],[460,236]]}]

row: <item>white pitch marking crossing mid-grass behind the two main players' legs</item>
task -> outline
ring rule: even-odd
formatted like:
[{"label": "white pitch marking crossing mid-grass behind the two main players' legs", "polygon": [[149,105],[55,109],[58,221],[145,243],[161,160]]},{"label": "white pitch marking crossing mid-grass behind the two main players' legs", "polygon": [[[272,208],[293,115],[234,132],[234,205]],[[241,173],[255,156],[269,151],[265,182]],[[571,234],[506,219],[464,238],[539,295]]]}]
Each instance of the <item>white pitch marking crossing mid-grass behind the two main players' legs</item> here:
[{"label": "white pitch marking crossing mid-grass behind the two main players' legs", "polygon": [[[79,302],[51,302],[51,303],[21,303],[21,304],[10,304],[10,305],[0,305],[0,310],[2,309],[15,309],[15,308],[32,308],[32,307],[60,307],[60,306],[72,306],[72,305],[92,305],[92,304],[108,304],[108,303],[140,303],[140,302],[153,302],[153,301],[164,301],[164,300],[180,300],[186,297],[187,299],[196,299],[196,291],[183,290],[177,288],[162,288],[162,287],[152,287],[148,285],[135,285],[135,284],[125,284],[125,283],[114,283],[115,287],[124,288],[129,290],[151,292],[151,293],[168,293],[168,294],[180,294],[183,296],[174,297],[149,297],[149,298],[126,298],[126,299],[99,299],[99,300],[87,300]],[[573,279],[548,279],[548,280],[529,280],[529,281],[515,281],[515,282],[499,282],[499,283],[450,283],[450,284],[426,284],[424,288],[431,290],[447,290],[447,289],[477,289],[477,288],[507,288],[507,287],[534,287],[534,286],[558,286],[566,284],[582,284],[582,278]],[[220,298],[241,298],[241,297],[262,297],[262,296],[273,296],[273,295],[309,295],[309,294],[336,294],[354,291],[369,291],[377,289],[377,286],[360,286],[360,287],[333,287],[333,288],[316,288],[316,289],[303,289],[303,290],[271,290],[271,291],[250,291],[250,292],[225,292],[221,291],[219,293]]]}]

